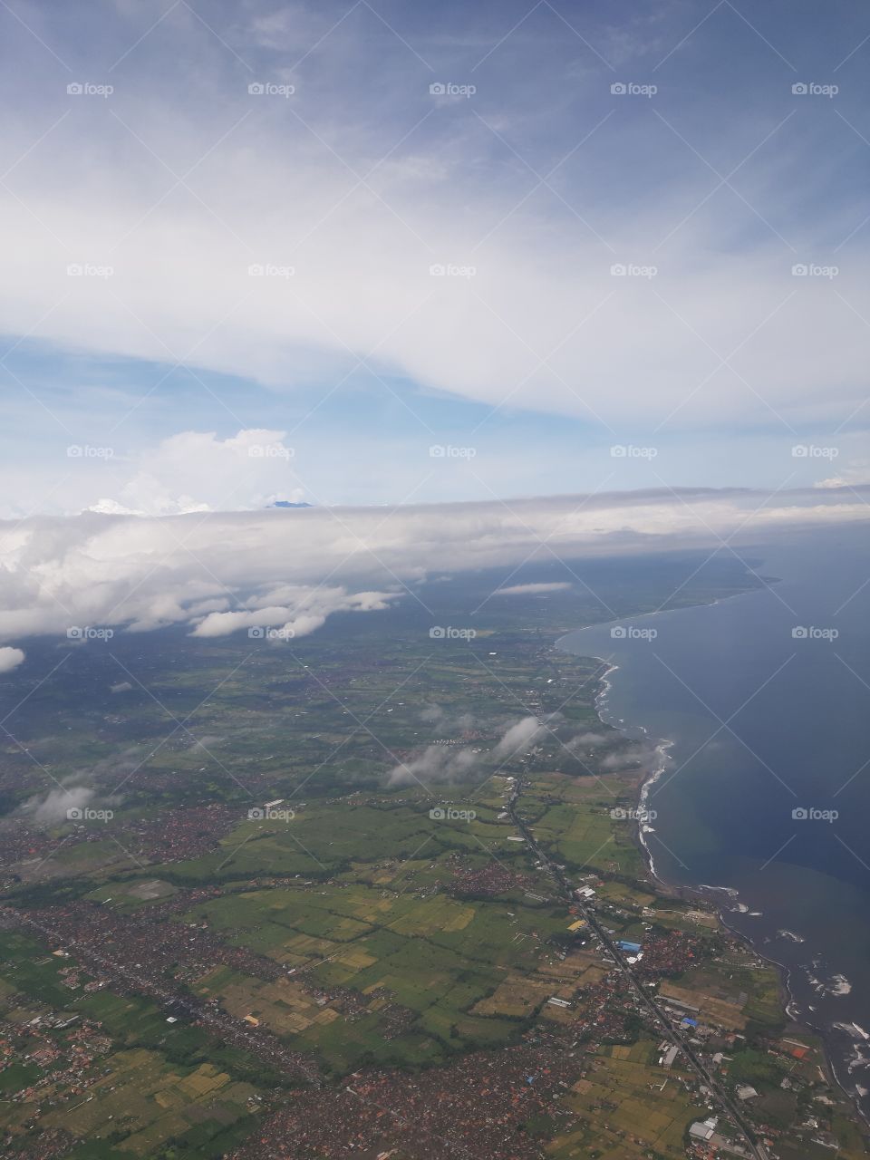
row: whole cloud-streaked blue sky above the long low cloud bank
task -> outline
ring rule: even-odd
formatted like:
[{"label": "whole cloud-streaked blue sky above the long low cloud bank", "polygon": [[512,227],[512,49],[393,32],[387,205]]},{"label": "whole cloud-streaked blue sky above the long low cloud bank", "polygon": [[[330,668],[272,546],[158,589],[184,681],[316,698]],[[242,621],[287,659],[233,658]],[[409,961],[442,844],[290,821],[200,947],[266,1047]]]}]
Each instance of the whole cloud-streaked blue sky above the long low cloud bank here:
[{"label": "whole cloud-streaked blue sky above the long low cloud bank", "polygon": [[10,2],[3,514],[870,480],[870,10],[756,7]]}]

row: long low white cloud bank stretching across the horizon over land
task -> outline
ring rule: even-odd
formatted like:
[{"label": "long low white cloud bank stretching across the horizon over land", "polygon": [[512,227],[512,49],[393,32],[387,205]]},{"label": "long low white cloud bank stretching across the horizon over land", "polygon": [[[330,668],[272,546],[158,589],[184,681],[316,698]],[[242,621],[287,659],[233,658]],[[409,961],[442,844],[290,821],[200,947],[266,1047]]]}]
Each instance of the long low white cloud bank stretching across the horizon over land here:
[{"label": "long low white cloud bank stretching across the horizon over land", "polygon": [[[0,640],[78,625],[197,636],[289,625],[409,600],[429,574],[769,543],[789,529],[865,521],[854,490],[670,490],[502,502],[0,522]],[[543,549],[542,544],[546,544]],[[329,581],[326,583],[325,581]]]}]

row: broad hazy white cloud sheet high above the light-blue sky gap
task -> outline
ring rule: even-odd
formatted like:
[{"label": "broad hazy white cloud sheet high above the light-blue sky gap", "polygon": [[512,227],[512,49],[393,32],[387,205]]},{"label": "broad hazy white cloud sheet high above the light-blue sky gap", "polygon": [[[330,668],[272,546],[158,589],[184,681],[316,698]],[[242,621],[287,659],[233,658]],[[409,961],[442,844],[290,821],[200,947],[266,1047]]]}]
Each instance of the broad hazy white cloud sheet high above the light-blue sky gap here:
[{"label": "broad hazy white cloud sheet high above the light-blue sky gap", "polygon": [[[610,425],[756,422],[771,412],[793,423],[832,409],[846,418],[863,401],[863,211],[820,164],[829,130],[812,117],[821,110],[802,109],[800,137],[792,126],[777,132],[775,151],[759,143],[781,119],[778,106],[759,123],[727,118],[716,155],[724,172],[740,162],[739,194],[712,196],[701,154],[684,166],[693,148],[706,150],[697,126],[683,143],[650,109],[623,104],[593,133],[615,111],[610,75],[583,71],[572,81],[590,110],[589,139],[551,189],[538,189],[534,166],[545,173],[565,160],[579,130],[568,108],[557,119],[549,102],[514,103],[512,88],[519,100],[523,85],[549,80],[537,58],[523,85],[438,107],[419,60],[367,6],[335,28],[313,5],[242,8],[215,16],[233,52],[253,60],[242,75],[181,5],[125,53],[111,101],[60,110],[45,97],[8,102],[7,153],[24,164],[16,161],[5,203],[6,332],[183,361],[282,391],[312,378],[332,384],[365,356],[463,398],[500,405],[509,396],[512,407]],[[369,77],[354,88],[351,70],[370,65],[357,19],[392,51],[378,59],[379,84]],[[596,31],[608,43],[606,21]],[[93,63],[103,67],[114,41],[119,50],[136,42],[129,26],[103,22],[100,32]],[[638,32],[628,30],[617,59],[637,55]],[[155,84],[151,53],[164,35],[179,59],[196,61],[201,100],[189,99],[187,67],[161,68]],[[273,35],[292,45],[290,57],[306,57],[291,102],[247,93],[258,70],[263,79],[282,72]],[[666,42],[668,27],[657,36]],[[21,44],[8,78],[19,97],[17,70],[45,66],[36,41],[22,35]],[[788,101],[784,86],[783,109],[793,113]],[[538,158],[536,136],[552,155]],[[639,151],[651,145],[657,164],[641,171]],[[519,160],[527,154],[532,173]],[[812,213],[799,212],[796,172],[807,201],[825,174],[827,196],[813,198]],[[771,204],[788,245],[764,225]],[[849,261],[835,285],[792,277],[793,263],[824,258],[832,238],[846,237]],[[70,277],[70,263],[114,273]],[[450,263],[476,274],[430,276],[433,264]],[[614,264],[653,263],[654,278],[611,274]],[[295,273],[252,277],[252,264]],[[215,406],[226,404],[216,397]],[[179,502],[153,493],[147,478],[139,488],[148,505],[131,509]],[[183,495],[196,501],[197,491]]]}]

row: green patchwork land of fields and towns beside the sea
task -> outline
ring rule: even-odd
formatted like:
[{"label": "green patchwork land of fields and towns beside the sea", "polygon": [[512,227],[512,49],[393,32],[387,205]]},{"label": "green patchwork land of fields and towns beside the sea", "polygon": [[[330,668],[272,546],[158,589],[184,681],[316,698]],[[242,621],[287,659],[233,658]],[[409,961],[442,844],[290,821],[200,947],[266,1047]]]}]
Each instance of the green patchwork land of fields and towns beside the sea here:
[{"label": "green patchwork land of fields and towns beside the sea", "polygon": [[696,566],[442,579],[298,641],[118,636],[10,682],[2,1154],[868,1154],[776,971],[651,880],[653,754],[554,647],[757,582]]}]

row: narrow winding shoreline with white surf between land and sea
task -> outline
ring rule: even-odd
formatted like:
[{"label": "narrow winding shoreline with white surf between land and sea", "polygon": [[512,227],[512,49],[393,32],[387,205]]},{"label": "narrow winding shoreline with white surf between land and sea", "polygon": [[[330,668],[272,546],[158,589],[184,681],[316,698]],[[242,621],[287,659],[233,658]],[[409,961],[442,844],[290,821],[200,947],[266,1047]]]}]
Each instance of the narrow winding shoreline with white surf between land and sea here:
[{"label": "narrow winding shoreline with white surf between land and sea", "polygon": [[[694,604],[694,606],[688,606],[688,607],[693,607],[693,608],[708,608],[708,607],[712,607],[713,604],[722,603],[723,600],[733,600],[735,596],[744,596],[744,595],[747,595],[747,593],[735,593],[734,596],[724,596],[724,597],[720,597],[719,600],[710,601],[709,603]],[[660,615],[661,611],[662,610],[659,609],[659,610],[655,610],[653,612],[644,612],[644,614],[641,614],[641,616],[635,617],[633,619],[641,619],[644,617],[658,616],[658,615]],[[679,611],[679,609],[668,609],[667,611]],[[585,626],[585,628],[601,629],[601,628],[606,628],[607,624],[618,624],[618,623],[622,623],[622,622],[621,621],[607,621],[603,624],[588,625],[588,626]],[[575,631],[583,631],[583,629],[575,630]],[[561,648],[561,641],[564,639],[566,639],[567,637],[570,637],[570,636],[573,636],[573,632],[563,633],[554,641],[556,647],[560,648],[560,651],[563,651],[563,652],[568,652],[568,650]],[[648,799],[650,790],[652,789],[653,785],[655,785],[655,783],[661,778],[662,774],[667,769],[668,761],[670,760],[670,757],[668,755],[668,751],[673,747],[674,741],[670,740],[670,739],[668,739],[668,738],[653,739],[653,738],[650,737],[648,731],[643,725],[630,725],[625,720],[623,720],[622,718],[616,719],[616,720],[608,720],[607,717],[606,717],[606,712],[607,712],[607,708],[608,708],[607,706],[607,695],[609,694],[610,689],[612,688],[612,681],[610,681],[609,677],[610,677],[611,673],[618,672],[619,666],[617,664],[615,664],[612,660],[608,660],[608,659],[606,659],[603,657],[597,657],[594,653],[573,653],[572,652],[571,655],[575,655],[575,657],[583,655],[586,659],[592,659],[594,661],[597,661],[597,664],[603,667],[603,672],[597,677],[600,688],[599,688],[599,691],[596,693],[595,698],[594,698],[595,712],[596,712],[597,718],[601,722],[601,724],[608,726],[608,728],[617,730],[624,737],[631,738],[632,737],[632,731],[635,731],[636,735],[637,734],[641,734],[647,740],[653,740],[654,741],[653,752],[657,755],[658,760],[655,761],[654,767],[648,773],[646,773],[645,776],[641,776],[638,780],[638,782],[637,782],[637,812],[640,813],[641,811],[645,811],[645,809],[646,809],[645,803]],[[752,937],[748,934],[745,934],[742,930],[738,930],[737,928],[734,928],[727,921],[727,918],[726,918],[726,914],[728,914],[730,912],[726,911],[724,908],[723,904],[719,902],[719,901],[717,901],[716,898],[710,898],[710,893],[712,893],[712,892],[716,892],[716,893],[727,893],[731,897],[732,896],[731,887],[728,887],[728,886],[710,886],[710,885],[706,885],[705,883],[698,883],[697,885],[694,885],[694,886],[680,886],[680,885],[673,885],[670,883],[667,883],[659,875],[658,870],[655,869],[655,862],[654,862],[652,851],[650,850],[648,842],[646,841],[646,838],[645,838],[644,825],[645,824],[639,818],[636,818],[635,821],[633,821],[633,825],[632,825],[632,834],[633,834],[635,842],[638,846],[638,848],[639,848],[639,850],[641,853],[641,856],[644,858],[644,863],[645,863],[646,870],[647,870],[647,876],[650,878],[651,886],[653,887],[653,890],[655,890],[658,893],[665,896],[666,898],[689,899],[689,900],[693,900],[693,901],[702,900],[702,901],[706,902],[716,912],[716,915],[717,915],[719,922],[722,923],[722,926],[733,937],[738,938],[741,943],[744,943],[744,945],[747,947],[755,956],[757,956],[759,959],[761,959],[764,963],[768,963],[770,966],[773,966],[773,967],[776,969],[776,972],[777,972],[778,978],[780,978],[780,999],[781,999],[781,1003],[782,1003],[782,1009],[783,1009],[784,1016],[786,1017],[786,1020],[789,1020],[791,1022],[791,1024],[795,1028],[797,1028],[797,1029],[804,1029],[807,1034],[810,1034],[810,1035],[812,1035],[812,1036],[814,1036],[814,1037],[817,1037],[818,1039],[821,1041],[822,1049],[824,1049],[824,1057],[825,1057],[825,1070],[828,1073],[828,1078],[831,1080],[833,1080],[833,1083],[836,1085],[836,1087],[842,1092],[843,1096],[849,1101],[850,1105],[855,1109],[855,1112],[856,1112],[856,1115],[858,1117],[858,1121],[862,1124],[864,1124],[867,1128],[870,1128],[870,1116],[868,1116],[864,1112],[863,1108],[861,1107],[861,1102],[860,1102],[860,1097],[858,1097],[857,1093],[850,1092],[844,1086],[843,1081],[840,1079],[840,1075],[838,1074],[838,1070],[836,1070],[836,1066],[834,1064],[834,1050],[833,1050],[833,1046],[832,1046],[832,1043],[831,1043],[831,1032],[829,1032],[829,1030],[827,1028],[814,1027],[807,1020],[805,1020],[803,1017],[802,1018],[797,1018],[797,1017],[795,1017],[791,1014],[791,1008],[798,1002],[797,998],[795,996],[795,994],[793,994],[793,992],[791,989],[791,969],[788,967],[784,963],[780,963],[777,959],[771,958],[771,956],[769,954],[760,950],[756,947],[756,944],[753,942]],[[652,832],[654,832],[654,829]]]}]

